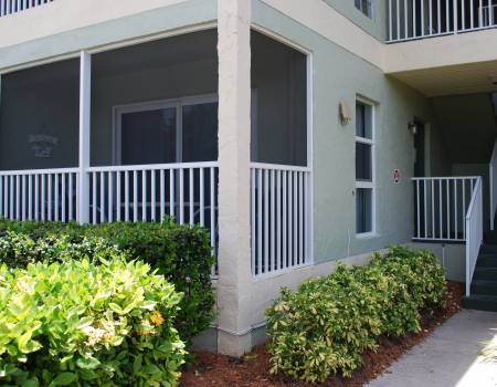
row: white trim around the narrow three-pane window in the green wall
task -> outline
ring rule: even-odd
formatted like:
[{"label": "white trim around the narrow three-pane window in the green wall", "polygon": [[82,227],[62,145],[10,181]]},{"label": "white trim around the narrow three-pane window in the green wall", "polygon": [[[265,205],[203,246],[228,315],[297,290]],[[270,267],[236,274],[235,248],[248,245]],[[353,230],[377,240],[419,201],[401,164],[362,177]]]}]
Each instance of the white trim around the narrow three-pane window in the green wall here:
[{"label": "white trim around the narrow three-pane window in the green wall", "polygon": [[[356,224],[356,238],[358,239],[366,239],[366,238],[374,238],[378,236],[377,232],[377,153],[376,153],[376,133],[377,133],[377,104],[362,98],[360,96],[356,97],[356,102],[359,102],[361,104],[368,105],[371,107],[371,138],[360,137],[356,136],[355,138],[355,145],[356,143],[361,144],[368,144],[371,146],[371,181],[363,181],[363,180],[357,180],[356,177],[356,197],[357,197],[357,189],[371,189],[371,231],[368,232],[357,232],[357,224]],[[357,109],[356,109],[357,112]],[[357,117],[356,117],[357,119]],[[357,207],[355,207],[357,211]],[[356,222],[357,222],[357,213],[356,213]]]}]

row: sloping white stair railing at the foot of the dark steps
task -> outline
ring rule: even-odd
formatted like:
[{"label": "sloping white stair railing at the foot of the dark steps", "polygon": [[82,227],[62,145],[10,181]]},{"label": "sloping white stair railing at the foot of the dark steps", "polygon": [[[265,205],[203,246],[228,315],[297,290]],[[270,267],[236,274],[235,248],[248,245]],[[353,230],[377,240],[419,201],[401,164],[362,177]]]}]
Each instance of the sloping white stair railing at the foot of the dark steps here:
[{"label": "sloping white stair railing at the foot of the dark steps", "polygon": [[482,178],[476,181],[466,216],[466,295],[470,295],[470,284],[476,261],[483,243],[483,188]]}]

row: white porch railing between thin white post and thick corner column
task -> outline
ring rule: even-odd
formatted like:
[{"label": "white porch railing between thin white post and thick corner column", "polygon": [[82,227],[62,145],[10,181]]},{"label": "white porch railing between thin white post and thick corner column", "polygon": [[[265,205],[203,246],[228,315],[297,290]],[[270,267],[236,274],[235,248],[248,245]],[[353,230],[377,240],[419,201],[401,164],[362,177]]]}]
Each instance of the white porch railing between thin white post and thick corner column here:
[{"label": "white porch railing between thin white post and thick corner column", "polygon": [[160,221],[210,229],[216,247],[218,163],[91,167],[89,221]]}]

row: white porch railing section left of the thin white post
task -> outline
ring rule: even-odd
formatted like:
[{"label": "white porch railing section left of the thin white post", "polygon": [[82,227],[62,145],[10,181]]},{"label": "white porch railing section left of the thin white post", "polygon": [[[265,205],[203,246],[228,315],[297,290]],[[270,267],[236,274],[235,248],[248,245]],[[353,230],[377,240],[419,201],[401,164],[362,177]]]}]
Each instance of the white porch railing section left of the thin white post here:
[{"label": "white porch railing section left of the thin white post", "polygon": [[0,218],[77,220],[78,169],[0,171]]}]

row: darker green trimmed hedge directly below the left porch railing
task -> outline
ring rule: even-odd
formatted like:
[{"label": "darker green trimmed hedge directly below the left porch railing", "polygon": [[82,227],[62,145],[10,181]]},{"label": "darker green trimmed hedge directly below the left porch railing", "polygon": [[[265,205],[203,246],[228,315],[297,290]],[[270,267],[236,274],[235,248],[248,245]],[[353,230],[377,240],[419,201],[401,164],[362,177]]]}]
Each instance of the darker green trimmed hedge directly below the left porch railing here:
[{"label": "darker green trimmed hedge directly below the left porch railing", "polygon": [[184,294],[176,320],[182,339],[190,343],[213,320],[211,268],[214,260],[209,233],[203,228],[179,226],[171,220],[98,226],[0,220],[0,236],[3,236],[0,261],[15,265],[66,255],[93,259],[116,245],[131,259],[149,263]]}]

